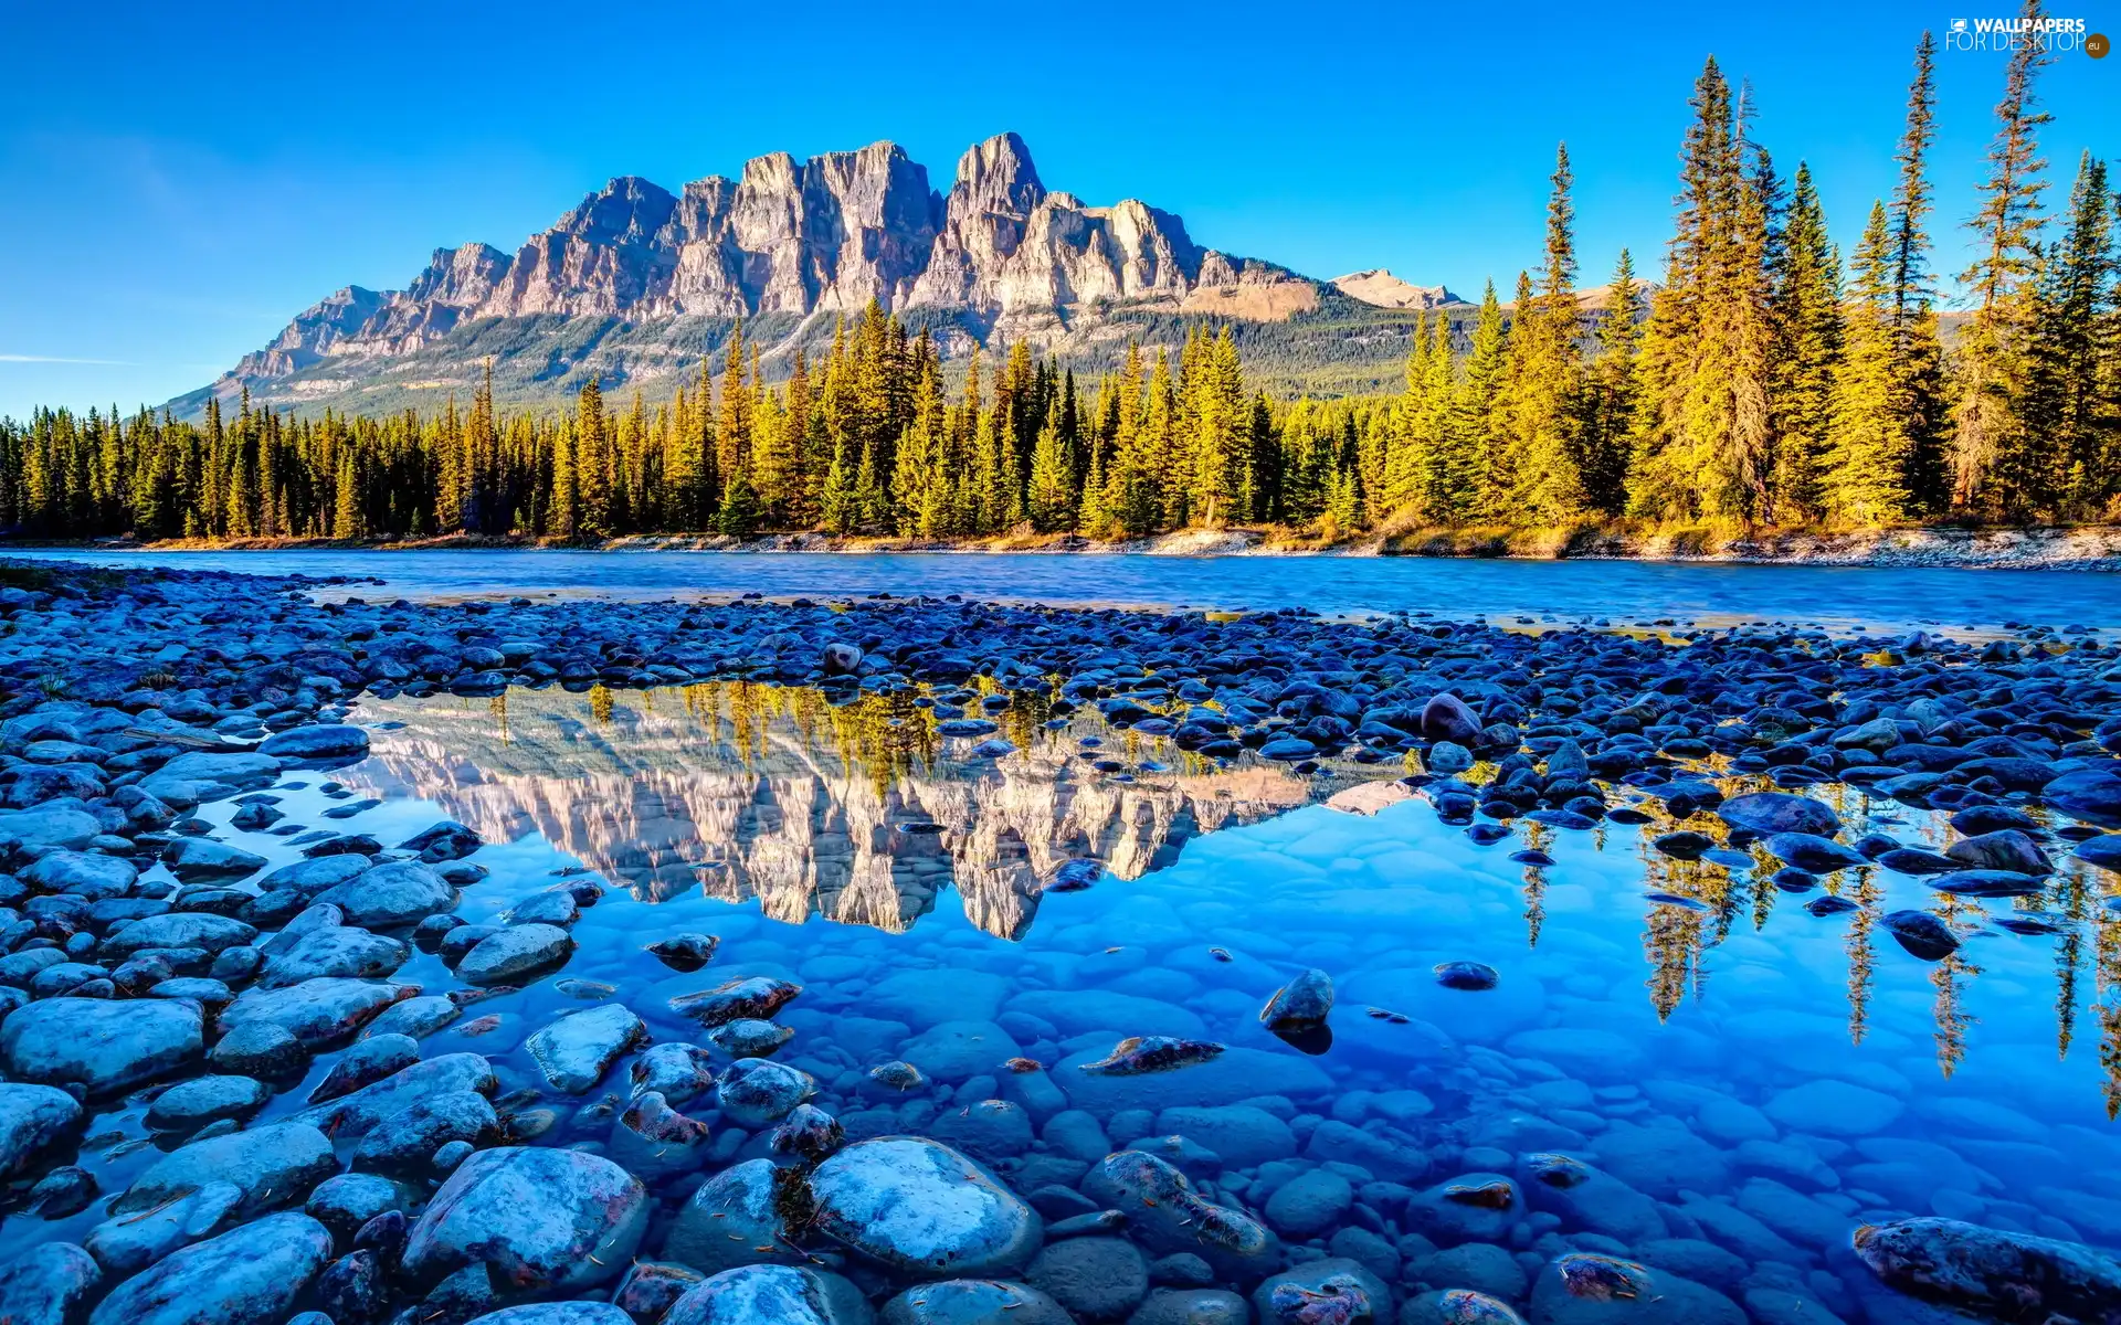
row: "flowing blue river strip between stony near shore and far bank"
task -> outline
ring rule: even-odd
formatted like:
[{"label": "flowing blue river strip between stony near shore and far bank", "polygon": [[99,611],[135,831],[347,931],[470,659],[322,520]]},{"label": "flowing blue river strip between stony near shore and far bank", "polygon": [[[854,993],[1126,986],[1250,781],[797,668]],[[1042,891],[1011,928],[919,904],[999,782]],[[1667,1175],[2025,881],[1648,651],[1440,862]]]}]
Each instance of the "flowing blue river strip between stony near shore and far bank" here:
[{"label": "flowing blue river strip between stony near shore and far bank", "polygon": [[1052,553],[715,551],[13,551],[110,566],[382,577],[395,596],[613,598],[965,594],[986,600],[1321,613],[1432,611],[1453,619],[1794,621],[1833,630],[2006,621],[2121,625],[2121,585],[2098,572],[1512,562],[1434,558],[1156,558]]}]

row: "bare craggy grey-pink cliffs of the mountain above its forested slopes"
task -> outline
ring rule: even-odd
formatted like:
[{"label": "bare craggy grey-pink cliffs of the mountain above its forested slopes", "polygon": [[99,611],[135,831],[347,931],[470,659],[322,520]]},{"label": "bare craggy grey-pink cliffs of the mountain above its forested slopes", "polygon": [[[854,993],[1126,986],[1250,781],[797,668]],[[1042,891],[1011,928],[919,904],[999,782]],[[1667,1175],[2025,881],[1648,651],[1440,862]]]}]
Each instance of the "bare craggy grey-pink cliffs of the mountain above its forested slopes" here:
[{"label": "bare craggy grey-pink cliffs of the mountain above its forested slopes", "polygon": [[874,299],[1027,335],[1124,301],[1283,318],[1317,293],[1283,267],[1200,248],[1171,212],[1050,193],[1016,134],[969,148],[946,195],[899,146],[874,142],[808,161],[772,153],[679,195],[615,178],[513,254],[437,248],[403,290],[331,295],[214,390],[411,354],[481,318],[806,318]]}]

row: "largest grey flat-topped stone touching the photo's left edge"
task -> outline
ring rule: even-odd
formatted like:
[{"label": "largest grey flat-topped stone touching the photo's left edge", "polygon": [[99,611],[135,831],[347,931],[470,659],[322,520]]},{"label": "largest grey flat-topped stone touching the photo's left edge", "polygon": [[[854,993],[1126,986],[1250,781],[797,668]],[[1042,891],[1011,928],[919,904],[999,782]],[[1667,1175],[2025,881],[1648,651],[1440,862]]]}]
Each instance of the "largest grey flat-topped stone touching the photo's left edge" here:
[{"label": "largest grey flat-topped stone touching the photo's left edge", "polygon": [[204,1049],[195,1003],[45,999],[0,1022],[0,1066],[38,1085],[81,1083],[89,1094],[144,1085],[185,1068]]}]

